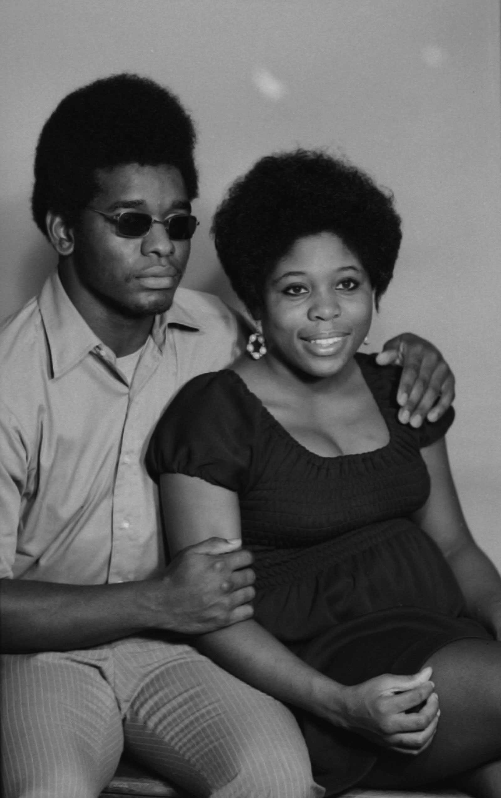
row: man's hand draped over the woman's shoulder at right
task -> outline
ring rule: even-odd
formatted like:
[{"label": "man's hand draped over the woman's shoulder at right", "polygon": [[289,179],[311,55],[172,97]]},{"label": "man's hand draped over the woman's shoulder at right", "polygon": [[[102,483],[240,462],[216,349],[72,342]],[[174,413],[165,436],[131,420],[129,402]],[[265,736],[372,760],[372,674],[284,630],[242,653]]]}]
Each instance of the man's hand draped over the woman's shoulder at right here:
[{"label": "man's hand draped over the woman's shoulder at right", "polygon": [[417,335],[403,333],[387,341],[376,362],[404,367],[397,395],[402,424],[437,421],[454,400],[454,374],[439,350]]}]

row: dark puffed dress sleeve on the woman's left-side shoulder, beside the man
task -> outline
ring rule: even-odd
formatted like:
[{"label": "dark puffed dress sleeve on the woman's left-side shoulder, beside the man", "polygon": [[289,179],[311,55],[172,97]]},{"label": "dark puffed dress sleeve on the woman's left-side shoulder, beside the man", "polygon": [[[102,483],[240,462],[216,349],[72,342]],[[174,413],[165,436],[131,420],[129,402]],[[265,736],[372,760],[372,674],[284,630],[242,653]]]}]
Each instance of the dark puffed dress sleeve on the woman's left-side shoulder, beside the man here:
[{"label": "dark puffed dress sleeve on the woman's left-side shoulder, beside the man", "polygon": [[259,407],[229,369],[201,374],[177,393],[146,452],[153,480],[181,473],[239,492],[249,480]]}]

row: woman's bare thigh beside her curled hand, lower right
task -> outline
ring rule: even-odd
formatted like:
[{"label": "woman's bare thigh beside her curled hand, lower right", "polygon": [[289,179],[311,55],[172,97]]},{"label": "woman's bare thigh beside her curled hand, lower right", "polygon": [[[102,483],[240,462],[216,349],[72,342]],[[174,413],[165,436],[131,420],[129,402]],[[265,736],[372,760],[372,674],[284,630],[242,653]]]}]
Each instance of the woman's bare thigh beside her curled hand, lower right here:
[{"label": "woman's bare thigh beside her curled hand, lower right", "polygon": [[417,757],[384,753],[364,785],[418,787],[501,760],[501,642],[457,640],[425,664],[441,711],[433,742]]}]

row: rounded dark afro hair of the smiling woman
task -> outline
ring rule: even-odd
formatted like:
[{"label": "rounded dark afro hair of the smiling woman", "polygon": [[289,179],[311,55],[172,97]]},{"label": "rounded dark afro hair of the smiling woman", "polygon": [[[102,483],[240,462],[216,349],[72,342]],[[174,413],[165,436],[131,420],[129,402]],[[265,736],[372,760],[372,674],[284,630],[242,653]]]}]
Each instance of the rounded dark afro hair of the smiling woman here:
[{"label": "rounded dark afro hair of the smiling woman", "polygon": [[322,150],[266,156],[237,179],[211,232],[237,296],[256,318],[264,286],[297,239],[337,235],[368,273],[376,307],[392,279],[401,239],[391,192]]}]

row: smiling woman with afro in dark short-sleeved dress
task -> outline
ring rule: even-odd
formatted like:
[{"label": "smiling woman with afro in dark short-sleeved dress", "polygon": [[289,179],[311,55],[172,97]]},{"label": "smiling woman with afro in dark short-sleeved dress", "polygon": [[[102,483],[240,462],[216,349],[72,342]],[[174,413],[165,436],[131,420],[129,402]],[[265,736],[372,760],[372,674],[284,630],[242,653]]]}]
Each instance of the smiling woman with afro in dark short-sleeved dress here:
[{"label": "smiling woman with afro in dark short-sleeved dress", "polygon": [[280,153],[233,184],[213,235],[256,332],[177,394],[148,462],[171,554],[241,539],[256,600],[197,645],[291,706],[327,795],[448,780],[499,798],[501,579],[455,493],[454,412],[400,423],[400,369],[359,352],[400,247],[392,196]]}]

